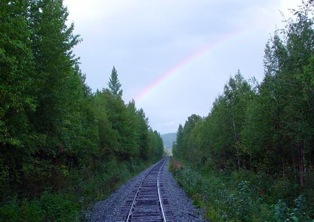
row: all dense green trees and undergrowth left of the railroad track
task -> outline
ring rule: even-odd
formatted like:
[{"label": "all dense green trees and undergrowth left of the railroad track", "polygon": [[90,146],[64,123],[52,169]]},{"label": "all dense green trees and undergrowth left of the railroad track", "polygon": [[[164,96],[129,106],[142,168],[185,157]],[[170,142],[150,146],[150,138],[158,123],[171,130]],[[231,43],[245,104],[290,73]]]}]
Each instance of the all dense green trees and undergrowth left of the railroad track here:
[{"label": "all dense green trees and undergrowth left of the railroad track", "polygon": [[0,1],[0,221],[78,221],[164,154],[113,67],[92,93],[62,0]]}]

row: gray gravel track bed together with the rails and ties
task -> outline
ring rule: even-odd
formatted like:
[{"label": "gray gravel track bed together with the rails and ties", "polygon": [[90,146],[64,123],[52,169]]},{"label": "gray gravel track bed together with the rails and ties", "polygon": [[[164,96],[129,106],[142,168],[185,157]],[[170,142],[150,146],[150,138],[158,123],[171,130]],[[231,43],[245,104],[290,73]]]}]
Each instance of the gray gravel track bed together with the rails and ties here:
[{"label": "gray gravel track bed together with the rails and ties", "polygon": [[168,159],[142,171],[86,213],[88,222],[205,222],[168,171]]}]

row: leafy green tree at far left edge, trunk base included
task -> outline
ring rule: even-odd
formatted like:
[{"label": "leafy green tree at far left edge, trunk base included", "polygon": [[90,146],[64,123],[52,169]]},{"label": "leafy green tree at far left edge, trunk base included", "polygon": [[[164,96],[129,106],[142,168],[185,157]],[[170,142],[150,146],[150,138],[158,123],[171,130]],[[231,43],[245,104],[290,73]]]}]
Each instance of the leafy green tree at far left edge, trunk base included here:
[{"label": "leafy green tree at far left edge, trunk base included", "polygon": [[[20,169],[36,153],[29,113],[37,107],[32,94],[34,64],[28,30],[27,1],[0,2],[0,196],[20,184]],[[31,146],[28,146],[31,145]],[[6,183],[2,183],[6,181]],[[4,193],[5,192],[5,193]]]}]

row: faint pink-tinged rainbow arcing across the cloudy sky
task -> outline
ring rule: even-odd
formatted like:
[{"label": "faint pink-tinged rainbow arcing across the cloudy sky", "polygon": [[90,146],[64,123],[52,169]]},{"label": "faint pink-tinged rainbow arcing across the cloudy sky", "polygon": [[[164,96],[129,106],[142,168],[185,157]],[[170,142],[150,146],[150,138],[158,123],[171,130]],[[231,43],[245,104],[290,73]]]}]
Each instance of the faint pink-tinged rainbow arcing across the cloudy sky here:
[{"label": "faint pink-tinged rainbow arcing across the cloudy sky", "polygon": [[140,104],[145,102],[151,95],[160,90],[167,83],[171,82],[176,76],[182,73],[187,68],[195,65],[196,63],[203,60],[206,56],[209,55],[210,52],[218,49],[221,46],[226,45],[227,43],[236,40],[242,37],[245,34],[249,34],[252,31],[256,31],[256,29],[246,29],[245,31],[238,31],[232,34],[227,34],[220,39],[217,39],[211,42],[209,45],[202,48],[202,50],[197,51],[196,53],[186,57],[183,61],[176,64],[174,67],[167,70],[164,74],[161,75],[157,80],[155,80],[152,84],[148,85],[148,87],[144,88],[136,97],[135,102]]}]

